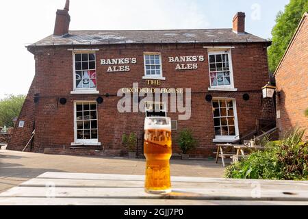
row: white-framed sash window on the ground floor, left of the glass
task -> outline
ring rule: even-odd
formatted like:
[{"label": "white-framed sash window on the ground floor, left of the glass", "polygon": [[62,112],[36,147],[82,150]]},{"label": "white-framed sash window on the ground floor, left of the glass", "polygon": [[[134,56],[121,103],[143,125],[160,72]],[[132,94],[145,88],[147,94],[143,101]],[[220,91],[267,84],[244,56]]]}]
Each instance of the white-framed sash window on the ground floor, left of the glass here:
[{"label": "white-framed sash window on the ground floor, left of the glass", "polygon": [[97,103],[75,103],[75,142],[98,142]]}]

